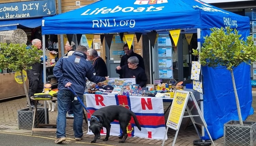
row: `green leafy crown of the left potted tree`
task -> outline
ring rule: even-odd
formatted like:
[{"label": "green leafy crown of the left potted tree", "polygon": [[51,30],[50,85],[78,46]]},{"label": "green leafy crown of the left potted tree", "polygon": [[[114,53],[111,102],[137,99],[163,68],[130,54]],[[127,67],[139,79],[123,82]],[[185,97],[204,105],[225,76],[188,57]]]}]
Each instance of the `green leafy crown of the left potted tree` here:
[{"label": "green leafy crown of the left potted tree", "polygon": [[0,68],[21,71],[31,69],[31,64],[40,62],[43,51],[32,46],[27,48],[26,44],[0,43]]}]

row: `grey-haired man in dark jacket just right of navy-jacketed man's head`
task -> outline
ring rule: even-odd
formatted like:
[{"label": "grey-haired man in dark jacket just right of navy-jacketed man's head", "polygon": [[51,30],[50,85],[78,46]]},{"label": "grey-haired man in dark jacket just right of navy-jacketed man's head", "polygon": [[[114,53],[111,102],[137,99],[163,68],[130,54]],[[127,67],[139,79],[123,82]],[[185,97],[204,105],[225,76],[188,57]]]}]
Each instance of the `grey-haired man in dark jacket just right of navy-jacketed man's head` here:
[{"label": "grey-haired man in dark jacket just right of navy-jacketed man's head", "polygon": [[108,70],[105,61],[98,56],[98,52],[95,49],[87,50],[87,59],[93,61],[93,68],[95,69],[96,76],[107,77]]}]

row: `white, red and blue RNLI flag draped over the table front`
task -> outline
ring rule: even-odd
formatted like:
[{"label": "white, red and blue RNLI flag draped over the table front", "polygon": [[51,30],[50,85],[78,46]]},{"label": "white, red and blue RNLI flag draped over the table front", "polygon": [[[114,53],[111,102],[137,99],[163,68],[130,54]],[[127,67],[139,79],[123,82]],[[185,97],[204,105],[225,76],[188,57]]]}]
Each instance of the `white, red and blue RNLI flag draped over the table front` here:
[{"label": "white, red and blue RNLI flag draped over the table front", "polygon": [[[127,133],[129,137],[135,136],[163,140],[166,128],[163,101],[161,98],[97,94],[86,94],[85,96],[86,105],[90,113],[109,105],[124,106],[133,111],[136,114],[142,130],[140,131],[137,128],[132,118],[127,126]],[[90,121],[90,114],[87,114],[87,116],[88,121]],[[88,127],[89,126],[90,122],[88,122]],[[119,127],[118,121],[112,122],[110,135],[119,136],[121,133],[122,130]],[[88,131],[87,134],[93,133]],[[101,135],[106,135],[106,128],[103,127]]]}]

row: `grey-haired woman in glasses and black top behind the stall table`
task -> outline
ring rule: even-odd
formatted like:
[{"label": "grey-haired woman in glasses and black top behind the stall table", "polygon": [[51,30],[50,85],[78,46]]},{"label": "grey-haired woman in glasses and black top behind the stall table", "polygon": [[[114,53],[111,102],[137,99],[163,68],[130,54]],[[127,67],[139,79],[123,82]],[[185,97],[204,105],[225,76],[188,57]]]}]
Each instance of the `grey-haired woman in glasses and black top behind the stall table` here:
[{"label": "grey-haired woman in glasses and black top behind the stall table", "polygon": [[117,66],[115,71],[117,74],[121,74],[123,78],[136,78],[136,84],[144,87],[147,82],[147,76],[145,70],[138,64],[139,59],[136,56],[132,56],[127,60],[126,65]]}]

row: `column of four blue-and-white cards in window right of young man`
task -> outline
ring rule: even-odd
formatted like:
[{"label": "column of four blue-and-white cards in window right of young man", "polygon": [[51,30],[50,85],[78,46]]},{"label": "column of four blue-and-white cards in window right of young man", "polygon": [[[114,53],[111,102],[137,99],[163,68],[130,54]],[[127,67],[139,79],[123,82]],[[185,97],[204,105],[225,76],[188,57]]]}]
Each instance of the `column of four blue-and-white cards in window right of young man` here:
[{"label": "column of four blue-and-white cards in window right of young man", "polygon": [[169,36],[159,35],[157,38],[158,78],[173,79],[173,48]]}]

